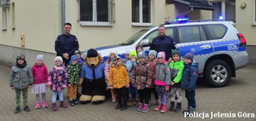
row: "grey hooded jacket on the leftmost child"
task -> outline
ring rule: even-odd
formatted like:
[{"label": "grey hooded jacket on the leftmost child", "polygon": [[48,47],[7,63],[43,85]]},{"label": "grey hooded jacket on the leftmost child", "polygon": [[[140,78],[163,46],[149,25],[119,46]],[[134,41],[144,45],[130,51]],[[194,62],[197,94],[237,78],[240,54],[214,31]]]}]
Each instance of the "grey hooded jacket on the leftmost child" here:
[{"label": "grey hooded jacket on the leftmost child", "polygon": [[33,76],[30,66],[26,65],[23,68],[13,66],[9,74],[9,86],[14,86],[15,89],[26,89],[33,83]]}]

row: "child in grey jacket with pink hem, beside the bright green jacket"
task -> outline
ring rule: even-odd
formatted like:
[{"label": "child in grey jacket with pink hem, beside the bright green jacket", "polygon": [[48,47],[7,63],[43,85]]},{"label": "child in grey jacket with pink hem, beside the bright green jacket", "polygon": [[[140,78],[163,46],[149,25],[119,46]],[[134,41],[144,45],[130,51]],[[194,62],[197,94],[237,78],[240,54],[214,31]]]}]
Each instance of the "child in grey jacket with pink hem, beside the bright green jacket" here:
[{"label": "child in grey jacket with pink hem, beside the bright green jacket", "polygon": [[171,73],[168,62],[166,62],[166,53],[161,51],[157,54],[158,63],[155,66],[155,89],[158,92],[159,104],[154,108],[154,111],[162,113],[167,112],[168,95],[167,91],[171,84]]}]

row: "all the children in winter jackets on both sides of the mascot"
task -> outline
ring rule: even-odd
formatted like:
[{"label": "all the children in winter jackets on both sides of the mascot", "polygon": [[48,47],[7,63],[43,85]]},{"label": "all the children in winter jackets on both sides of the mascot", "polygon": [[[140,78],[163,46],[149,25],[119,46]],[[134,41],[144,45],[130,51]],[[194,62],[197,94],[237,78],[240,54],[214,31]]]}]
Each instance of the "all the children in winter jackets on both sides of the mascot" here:
[{"label": "all the children in winter jackets on both sides of the mascot", "polygon": [[[168,95],[171,89],[170,111],[180,112],[182,109],[182,89],[188,100],[188,107],[184,112],[195,112],[195,84],[198,66],[194,62],[194,55],[188,53],[181,60],[178,50],[172,51],[172,62],[167,62],[165,52],[157,53],[154,50],[143,52],[143,46],[137,45],[136,50],[127,50],[125,60],[121,60],[116,51],[111,51],[105,62],[105,78],[110,89],[112,101],[118,101],[115,109],[125,110],[136,102],[137,111],[148,112],[151,93],[154,92],[157,107],[155,111],[167,112]],[[79,75],[84,61],[79,50],[71,56],[69,64],[65,66],[61,56],[55,57],[55,66],[49,73],[44,65],[44,55],[38,55],[36,63],[32,66],[26,64],[25,55],[18,55],[16,64],[10,72],[9,85],[15,89],[16,109],[20,112],[20,93],[22,92],[24,110],[27,107],[27,90],[32,88],[36,98],[36,108],[40,108],[39,95],[42,95],[42,107],[46,103],[47,87],[52,90],[52,110],[56,111],[56,98],[59,96],[60,107],[66,108],[62,90],[68,87],[67,97],[71,106],[78,104],[77,90]],[[129,95],[127,95],[129,92]],[[177,105],[175,106],[175,99]]]}]

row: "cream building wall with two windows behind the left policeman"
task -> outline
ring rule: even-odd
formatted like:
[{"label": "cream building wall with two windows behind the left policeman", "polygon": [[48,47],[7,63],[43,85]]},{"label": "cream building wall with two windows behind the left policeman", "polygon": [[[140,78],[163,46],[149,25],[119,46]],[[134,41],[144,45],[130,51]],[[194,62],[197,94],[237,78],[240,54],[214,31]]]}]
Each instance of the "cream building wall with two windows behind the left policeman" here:
[{"label": "cream building wall with two windows behind the left policeman", "polygon": [[[55,38],[61,34],[61,0],[10,0],[15,3],[15,30],[12,30],[12,5],[8,9],[8,28],[2,31],[0,15],[0,44],[19,47],[20,34],[25,34],[25,49],[55,53]],[[79,1],[66,0],[66,22],[73,24],[72,34],[79,39],[80,50],[124,42],[132,34],[148,26],[132,26],[131,0],[115,0],[113,26],[80,26]],[[166,16],[174,19],[174,5],[166,0],[152,0],[152,25],[163,24]],[[189,9],[182,8],[183,11]],[[181,10],[181,11],[182,11]],[[210,11],[196,10],[195,18],[207,18]],[[2,9],[0,9],[2,14]]]}]

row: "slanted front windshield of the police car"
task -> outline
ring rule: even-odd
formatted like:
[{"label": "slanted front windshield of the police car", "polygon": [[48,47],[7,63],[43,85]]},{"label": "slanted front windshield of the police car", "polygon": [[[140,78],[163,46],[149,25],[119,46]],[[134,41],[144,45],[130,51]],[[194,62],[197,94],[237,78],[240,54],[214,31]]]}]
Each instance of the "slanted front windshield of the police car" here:
[{"label": "slanted front windshield of the police car", "polygon": [[131,45],[132,43],[136,42],[139,37],[142,37],[145,32],[148,32],[149,29],[143,29],[131,37],[129,37],[124,43],[121,43],[122,45]]}]

